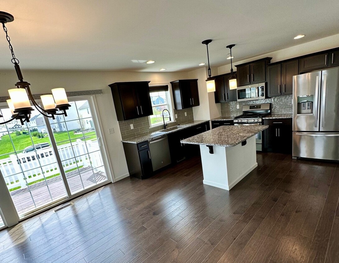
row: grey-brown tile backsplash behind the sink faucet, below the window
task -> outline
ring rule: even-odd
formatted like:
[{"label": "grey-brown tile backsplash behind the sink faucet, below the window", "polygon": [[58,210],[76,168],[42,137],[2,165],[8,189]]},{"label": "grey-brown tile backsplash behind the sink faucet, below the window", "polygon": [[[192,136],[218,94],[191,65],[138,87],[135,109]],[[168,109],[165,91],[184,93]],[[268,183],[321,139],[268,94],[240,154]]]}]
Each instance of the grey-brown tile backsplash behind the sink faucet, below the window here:
[{"label": "grey-brown tile backsplash behind the sink faucet, below the window", "polygon": [[[185,112],[186,115],[185,116]],[[174,114],[178,115],[178,118],[175,119],[175,122],[168,123],[167,127],[172,127],[176,125],[180,125],[186,122],[193,121],[193,109],[187,108],[182,110],[174,110]],[[168,121],[168,119],[165,119]],[[131,124],[133,124],[134,129],[131,129]],[[156,132],[157,130],[162,130],[163,126],[158,126],[154,128],[149,128],[149,120],[148,117],[137,118],[128,121],[119,121],[120,133],[123,140],[144,135],[147,133]]]}]

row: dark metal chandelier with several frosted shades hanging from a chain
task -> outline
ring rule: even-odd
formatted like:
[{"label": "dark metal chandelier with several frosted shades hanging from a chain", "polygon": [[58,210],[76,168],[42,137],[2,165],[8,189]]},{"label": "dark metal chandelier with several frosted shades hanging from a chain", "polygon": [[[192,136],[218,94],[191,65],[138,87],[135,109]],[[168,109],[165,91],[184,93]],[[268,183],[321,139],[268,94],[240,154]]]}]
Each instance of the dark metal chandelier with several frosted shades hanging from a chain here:
[{"label": "dark metal chandelier with several frosted shades hanging from a chain", "polygon": [[[9,50],[11,50],[12,53],[11,61],[14,64],[14,68],[19,79],[19,82],[15,84],[17,88],[8,90],[9,97],[11,99],[7,100],[7,104],[12,112],[12,118],[5,122],[0,122],[0,124],[5,124],[15,119],[20,120],[21,125],[23,125],[25,121],[29,122],[32,111],[34,110],[31,106],[31,102],[38,112],[40,112],[43,116],[46,116],[48,118],[55,119],[55,115],[67,116],[66,110],[69,107],[71,107],[71,105],[69,105],[68,103],[65,89],[63,88],[52,89],[53,95],[42,95],[41,101],[42,105],[44,106],[44,108],[42,108],[33,98],[31,88],[29,87],[31,86],[31,84],[26,81],[23,81],[23,76],[19,67],[19,59],[17,59],[14,55],[11,39],[7,34],[7,28],[5,26],[5,23],[12,22],[13,20],[14,17],[11,14],[0,11],[0,23],[2,24],[3,31],[6,34],[6,39],[9,44]],[[58,110],[62,112],[57,113]],[[2,117],[3,116],[0,114],[0,118]]]}]

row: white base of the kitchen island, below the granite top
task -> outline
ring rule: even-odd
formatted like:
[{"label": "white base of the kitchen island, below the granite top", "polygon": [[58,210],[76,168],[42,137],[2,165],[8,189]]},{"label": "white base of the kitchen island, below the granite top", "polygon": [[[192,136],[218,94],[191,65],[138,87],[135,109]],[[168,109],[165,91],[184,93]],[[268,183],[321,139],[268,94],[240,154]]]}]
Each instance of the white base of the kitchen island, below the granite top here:
[{"label": "white base of the kitchen island, below the granite top", "polygon": [[200,145],[205,185],[230,190],[258,166],[255,136],[234,147],[213,146],[213,154],[206,145]]}]

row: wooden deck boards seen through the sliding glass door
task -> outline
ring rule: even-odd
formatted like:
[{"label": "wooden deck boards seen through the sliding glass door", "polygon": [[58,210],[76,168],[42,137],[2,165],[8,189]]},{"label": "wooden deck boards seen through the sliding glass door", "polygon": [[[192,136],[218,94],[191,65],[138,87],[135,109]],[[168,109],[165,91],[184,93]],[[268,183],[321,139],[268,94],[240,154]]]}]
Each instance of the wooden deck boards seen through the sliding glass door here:
[{"label": "wooden deck boards seen through the sliding glass door", "polygon": [[[81,173],[82,182],[78,171],[72,171],[66,174],[72,193],[91,187],[96,183],[91,167],[81,168],[79,171]],[[96,173],[95,179],[98,183],[107,180],[107,177],[103,173]],[[65,187],[63,181],[61,180],[61,176],[48,179],[47,184],[45,181],[43,181],[29,186],[29,189],[25,188],[12,191],[11,196],[19,214],[23,214],[24,212],[35,209],[36,207],[51,203],[52,198],[49,192],[51,192],[53,200],[58,200],[66,196]],[[35,205],[31,194],[33,196]]]}]

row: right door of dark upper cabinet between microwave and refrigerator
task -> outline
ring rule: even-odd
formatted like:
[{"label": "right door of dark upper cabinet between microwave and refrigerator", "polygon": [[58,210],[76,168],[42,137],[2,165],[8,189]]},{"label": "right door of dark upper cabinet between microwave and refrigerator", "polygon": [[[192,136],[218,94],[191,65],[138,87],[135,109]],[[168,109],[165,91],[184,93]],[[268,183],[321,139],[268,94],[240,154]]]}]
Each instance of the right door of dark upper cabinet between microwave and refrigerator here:
[{"label": "right door of dark upper cabinet between microwave and refrigerator", "polygon": [[281,64],[282,95],[293,93],[293,76],[299,74],[298,67],[298,60],[292,60]]}]

